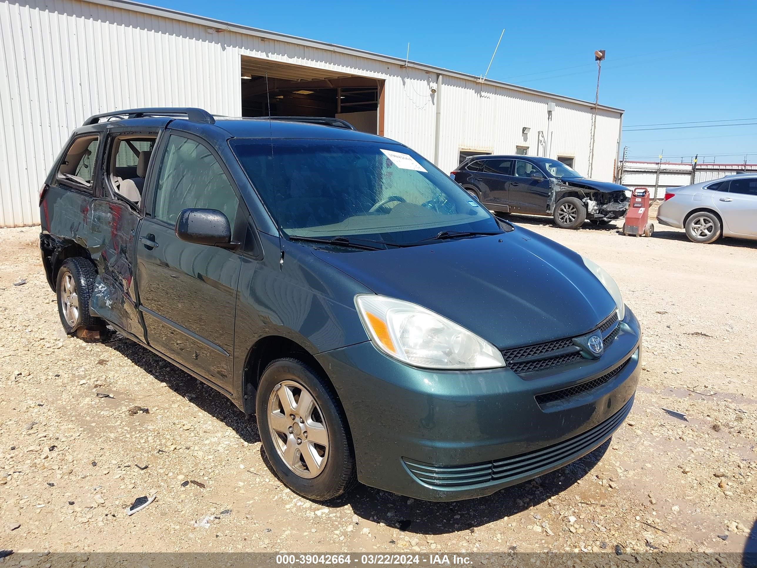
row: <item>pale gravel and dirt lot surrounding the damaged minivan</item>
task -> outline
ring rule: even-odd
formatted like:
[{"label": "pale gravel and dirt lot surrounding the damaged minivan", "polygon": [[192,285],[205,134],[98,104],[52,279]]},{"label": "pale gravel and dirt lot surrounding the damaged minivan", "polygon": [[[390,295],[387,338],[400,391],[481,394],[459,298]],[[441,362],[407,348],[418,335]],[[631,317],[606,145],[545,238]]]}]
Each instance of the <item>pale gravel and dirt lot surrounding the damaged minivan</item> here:
[{"label": "pale gravel and dirt lot surrounding the damaged minivan", "polygon": [[[289,492],[254,418],[222,395],[119,336],[64,335],[39,229],[0,229],[0,548],[742,551],[757,538],[757,243],[513,220],[615,276],[643,325],[640,387],[603,448],[448,504],[362,486],[328,504]],[[126,516],[142,495],[157,498]]]}]

